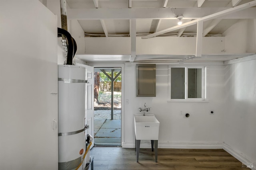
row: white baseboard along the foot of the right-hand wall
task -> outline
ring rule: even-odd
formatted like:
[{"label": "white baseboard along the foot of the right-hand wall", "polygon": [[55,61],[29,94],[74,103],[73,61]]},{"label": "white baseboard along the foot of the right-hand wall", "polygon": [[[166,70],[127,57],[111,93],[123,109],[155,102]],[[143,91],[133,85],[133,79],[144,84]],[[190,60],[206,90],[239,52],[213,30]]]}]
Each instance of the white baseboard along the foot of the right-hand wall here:
[{"label": "white baseboard along the foot of the right-hand wall", "polygon": [[248,158],[244,157],[244,155],[242,153],[238,153],[236,150],[234,150],[232,147],[230,147],[229,145],[227,145],[226,143],[223,143],[223,149],[228,152],[229,154],[231,154],[232,156],[234,156],[237,160],[239,160],[242,163],[252,163],[253,167],[250,168],[251,170],[256,170],[256,162],[252,162],[251,160],[249,160]]}]

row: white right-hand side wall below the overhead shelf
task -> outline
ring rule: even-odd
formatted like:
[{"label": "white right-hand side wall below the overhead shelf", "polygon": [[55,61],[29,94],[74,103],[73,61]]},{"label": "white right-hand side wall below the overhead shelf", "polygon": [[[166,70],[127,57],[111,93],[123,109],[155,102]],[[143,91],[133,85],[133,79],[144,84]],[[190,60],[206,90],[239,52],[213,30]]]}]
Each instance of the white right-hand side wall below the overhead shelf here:
[{"label": "white right-hand side wall below the overhead shelf", "polygon": [[[256,57],[225,69],[223,139],[243,162],[256,165]],[[246,160],[247,159],[247,160]]]}]

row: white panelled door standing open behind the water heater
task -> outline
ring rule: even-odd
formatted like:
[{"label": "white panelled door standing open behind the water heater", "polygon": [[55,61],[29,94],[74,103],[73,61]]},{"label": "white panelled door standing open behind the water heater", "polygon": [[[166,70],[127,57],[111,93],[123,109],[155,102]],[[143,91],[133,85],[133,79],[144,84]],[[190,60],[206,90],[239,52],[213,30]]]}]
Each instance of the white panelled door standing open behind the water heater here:
[{"label": "white panelled door standing open behind the water heater", "polygon": [[[85,124],[89,125],[86,134],[90,134],[94,138],[94,67],[80,63],[76,63],[76,65],[84,66],[86,68],[86,80],[89,80],[89,83],[86,83]],[[91,147],[93,146],[94,140],[92,141]]]}]

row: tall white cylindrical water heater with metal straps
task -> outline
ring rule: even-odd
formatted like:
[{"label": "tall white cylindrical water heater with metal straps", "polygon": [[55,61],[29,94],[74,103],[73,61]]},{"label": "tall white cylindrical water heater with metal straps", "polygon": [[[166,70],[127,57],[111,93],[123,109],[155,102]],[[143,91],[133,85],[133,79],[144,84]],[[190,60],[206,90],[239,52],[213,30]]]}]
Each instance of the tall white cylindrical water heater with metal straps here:
[{"label": "tall white cylindrical water heater with metal straps", "polygon": [[[76,169],[86,150],[86,68],[58,65],[58,167]],[[80,166],[78,170],[82,170]]]}]

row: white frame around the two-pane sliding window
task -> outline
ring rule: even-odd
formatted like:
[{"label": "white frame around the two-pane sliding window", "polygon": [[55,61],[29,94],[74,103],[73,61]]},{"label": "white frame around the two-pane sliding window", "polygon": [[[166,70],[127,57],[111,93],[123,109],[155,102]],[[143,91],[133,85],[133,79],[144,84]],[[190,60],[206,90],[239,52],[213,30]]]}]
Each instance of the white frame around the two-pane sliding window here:
[{"label": "white frame around the two-pane sliding window", "polygon": [[[185,68],[185,99],[171,98],[171,68]],[[202,68],[202,98],[188,98],[188,68]],[[168,102],[207,102],[206,66],[168,66]]]}]

